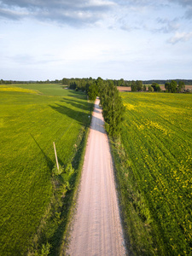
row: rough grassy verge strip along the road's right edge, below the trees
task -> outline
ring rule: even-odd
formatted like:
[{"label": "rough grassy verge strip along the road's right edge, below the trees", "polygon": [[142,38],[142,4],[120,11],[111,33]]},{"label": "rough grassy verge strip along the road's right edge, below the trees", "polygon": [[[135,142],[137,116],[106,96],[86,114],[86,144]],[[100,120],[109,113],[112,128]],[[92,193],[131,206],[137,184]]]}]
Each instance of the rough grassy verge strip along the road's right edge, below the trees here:
[{"label": "rough grassy verge strip along the road's right edge, below the trees", "polygon": [[155,246],[151,218],[137,179],[131,169],[131,161],[120,142],[110,139],[115,177],[118,187],[120,212],[129,255],[161,255]]}]

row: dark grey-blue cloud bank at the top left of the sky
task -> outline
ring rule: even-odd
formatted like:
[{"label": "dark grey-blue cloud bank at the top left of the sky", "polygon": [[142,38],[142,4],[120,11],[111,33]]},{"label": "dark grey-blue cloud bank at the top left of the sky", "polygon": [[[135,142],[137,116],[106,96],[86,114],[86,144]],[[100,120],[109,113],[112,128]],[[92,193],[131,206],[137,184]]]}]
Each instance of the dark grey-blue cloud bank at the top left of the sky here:
[{"label": "dark grey-blue cloud bank at the top left of the sky", "polygon": [[9,20],[21,20],[27,17],[79,27],[101,20],[103,15],[115,5],[113,1],[102,0],[2,0],[0,17]]}]

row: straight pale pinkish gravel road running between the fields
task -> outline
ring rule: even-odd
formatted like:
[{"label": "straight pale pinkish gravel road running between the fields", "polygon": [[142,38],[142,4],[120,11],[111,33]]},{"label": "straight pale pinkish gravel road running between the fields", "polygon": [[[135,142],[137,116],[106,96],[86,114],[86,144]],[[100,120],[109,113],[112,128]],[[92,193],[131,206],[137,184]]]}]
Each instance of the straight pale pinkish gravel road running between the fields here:
[{"label": "straight pale pinkish gravel road running between the fields", "polygon": [[108,136],[96,99],[67,255],[126,255]]}]

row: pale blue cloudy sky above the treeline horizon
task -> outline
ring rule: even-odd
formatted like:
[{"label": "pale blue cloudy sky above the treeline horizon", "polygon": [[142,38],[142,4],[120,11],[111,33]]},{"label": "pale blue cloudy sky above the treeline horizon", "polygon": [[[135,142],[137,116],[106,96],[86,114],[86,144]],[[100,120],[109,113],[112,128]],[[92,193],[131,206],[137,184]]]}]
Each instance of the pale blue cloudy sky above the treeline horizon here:
[{"label": "pale blue cloudy sky above the treeline horizon", "polygon": [[192,0],[0,0],[0,79],[192,79]]}]

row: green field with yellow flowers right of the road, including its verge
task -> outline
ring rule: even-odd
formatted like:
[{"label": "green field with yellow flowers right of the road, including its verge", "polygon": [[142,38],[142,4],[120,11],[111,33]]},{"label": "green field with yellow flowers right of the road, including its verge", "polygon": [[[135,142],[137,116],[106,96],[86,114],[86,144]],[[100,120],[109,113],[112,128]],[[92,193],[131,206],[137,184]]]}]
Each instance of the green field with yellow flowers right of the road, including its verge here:
[{"label": "green field with yellow flowers right of the road, including its verge", "polygon": [[136,255],[191,255],[192,95],[121,96],[126,156],[119,153],[117,175],[131,247]]}]

